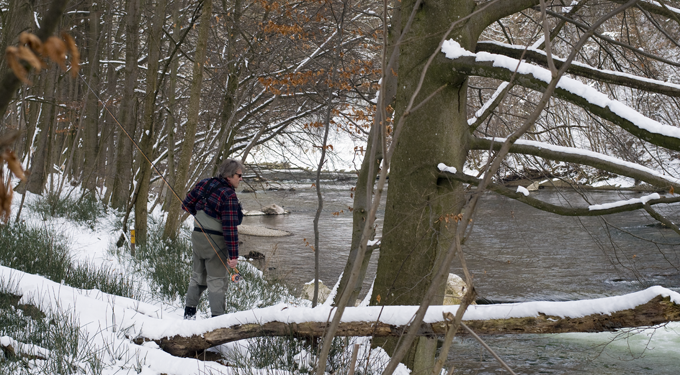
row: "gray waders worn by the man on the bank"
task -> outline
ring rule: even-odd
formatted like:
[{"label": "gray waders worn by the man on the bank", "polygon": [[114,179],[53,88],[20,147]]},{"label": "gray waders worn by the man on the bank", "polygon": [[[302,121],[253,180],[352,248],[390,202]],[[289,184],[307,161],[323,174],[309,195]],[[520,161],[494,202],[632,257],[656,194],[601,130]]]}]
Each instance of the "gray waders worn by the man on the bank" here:
[{"label": "gray waders worn by the man on the bank", "polygon": [[[222,222],[204,211],[198,211],[194,226],[222,233]],[[210,239],[206,238],[209,237]],[[208,289],[208,302],[212,316],[224,314],[225,293],[229,286],[227,277],[228,252],[222,235],[191,232],[194,266],[187,291],[186,306],[196,307],[203,291]],[[217,253],[215,253],[217,250]]]}]

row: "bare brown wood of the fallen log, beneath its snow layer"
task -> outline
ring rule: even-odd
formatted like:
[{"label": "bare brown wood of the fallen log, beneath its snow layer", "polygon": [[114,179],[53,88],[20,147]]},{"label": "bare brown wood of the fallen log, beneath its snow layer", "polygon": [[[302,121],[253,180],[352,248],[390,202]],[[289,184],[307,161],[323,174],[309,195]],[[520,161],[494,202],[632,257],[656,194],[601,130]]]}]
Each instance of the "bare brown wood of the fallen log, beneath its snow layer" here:
[{"label": "bare brown wood of the fallen log, beneath its snow layer", "polygon": [[[441,309],[442,307],[437,306],[435,308]],[[455,312],[456,307],[453,306],[453,308]],[[418,335],[428,337],[445,335],[449,324],[446,318],[449,316],[449,313],[450,311],[444,312],[442,309],[441,320],[423,323]],[[655,326],[672,321],[680,321],[680,305],[672,302],[669,297],[658,295],[634,308],[615,311],[609,314],[597,313],[583,317],[560,317],[539,312],[537,316],[488,320],[466,319],[465,324],[479,334],[516,334],[605,332],[621,328]],[[138,337],[135,339],[135,342],[141,344],[145,341],[155,341],[163,350],[170,354],[193,356],[197,352],[213,346],[253,337],[322,337],[327,325],[327,321],[304,323],[269,321],[265,323],[234,324],[191,336],[174,335],[160,339]],[[345,321],[340,323],[337,336],[400,336],[408,328],[408,324],[398,325],[383,321]],[[462,328],[460,333],[464,334]]]}]

